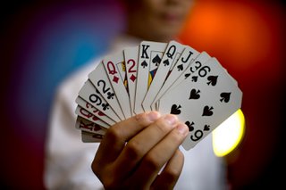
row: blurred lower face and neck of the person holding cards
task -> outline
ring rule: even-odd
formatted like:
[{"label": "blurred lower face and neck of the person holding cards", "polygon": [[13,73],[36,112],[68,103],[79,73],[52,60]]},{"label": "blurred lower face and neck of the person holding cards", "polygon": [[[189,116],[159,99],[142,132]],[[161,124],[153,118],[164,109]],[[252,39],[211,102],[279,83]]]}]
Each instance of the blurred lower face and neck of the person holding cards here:
[{"label": "blurred lower face and neck of the person holding cards", "polygon": [[191,0],[130,0],[128,32],[154,41],[176,37],[189,13]]}]

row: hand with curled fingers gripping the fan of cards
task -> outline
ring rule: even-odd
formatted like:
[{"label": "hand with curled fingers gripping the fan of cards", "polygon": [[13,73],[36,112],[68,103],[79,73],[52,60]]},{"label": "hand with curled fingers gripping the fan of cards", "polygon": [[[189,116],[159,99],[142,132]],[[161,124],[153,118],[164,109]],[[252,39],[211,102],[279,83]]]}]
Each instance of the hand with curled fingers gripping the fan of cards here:
[{"label": "hand with curled fingers gripping the fan of cards", "polygon": [[91,168],[105,189],[172,189],[184,160],[178,147],[188,131],[174,115],[141,113],[107,130]]}]

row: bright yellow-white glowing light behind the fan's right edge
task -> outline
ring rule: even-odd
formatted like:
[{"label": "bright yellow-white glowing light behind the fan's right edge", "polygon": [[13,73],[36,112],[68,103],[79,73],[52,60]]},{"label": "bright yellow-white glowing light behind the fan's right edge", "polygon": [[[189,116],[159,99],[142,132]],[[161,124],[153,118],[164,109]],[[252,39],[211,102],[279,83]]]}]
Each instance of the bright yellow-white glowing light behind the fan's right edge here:
[{"label": "bright yellow-white glowing light behind the fan's right edge", "polygon": [[213,149],[215,155],[223,157],[231,153],[231,151],[240,144],[244,131],[244,115],[241,110],[238,110],[214,129]]}]

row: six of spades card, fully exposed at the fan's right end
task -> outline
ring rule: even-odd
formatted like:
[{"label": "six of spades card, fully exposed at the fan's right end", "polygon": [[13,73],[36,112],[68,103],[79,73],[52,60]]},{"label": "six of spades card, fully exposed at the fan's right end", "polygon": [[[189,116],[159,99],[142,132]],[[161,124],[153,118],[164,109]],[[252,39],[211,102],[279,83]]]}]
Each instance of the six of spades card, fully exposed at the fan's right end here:
[{"label": "six of spades card, fully exposed at the fan's right end", "polygon": [[240,109],[242,92],[216,59],[211,59],[160,99],[159,112],[172,113],[189,127],[189,150]]}]

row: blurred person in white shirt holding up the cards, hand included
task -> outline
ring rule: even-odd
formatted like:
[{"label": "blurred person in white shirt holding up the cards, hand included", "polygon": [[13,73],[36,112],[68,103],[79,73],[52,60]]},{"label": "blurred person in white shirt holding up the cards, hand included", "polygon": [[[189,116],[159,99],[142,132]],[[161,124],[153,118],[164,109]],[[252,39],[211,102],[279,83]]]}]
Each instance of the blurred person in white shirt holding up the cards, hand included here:
[{"label": "blurred person in white shirt holding up the cards, hand included", "polygon": [[[108,53],[142,40],[176,39],[193,4],[190,0],[121,3],[126,28]],[[188,129],[173,115],[141,113],[108,129],[100,144],[81,142],[80,131],[74,128],[75,99],[101,60],[98,57],[72,73],[57,89],[46,142],[46,188],[225,189],[226,168],[223,159],[214,155],[212,136],[189,151],[181,149]]]}]

